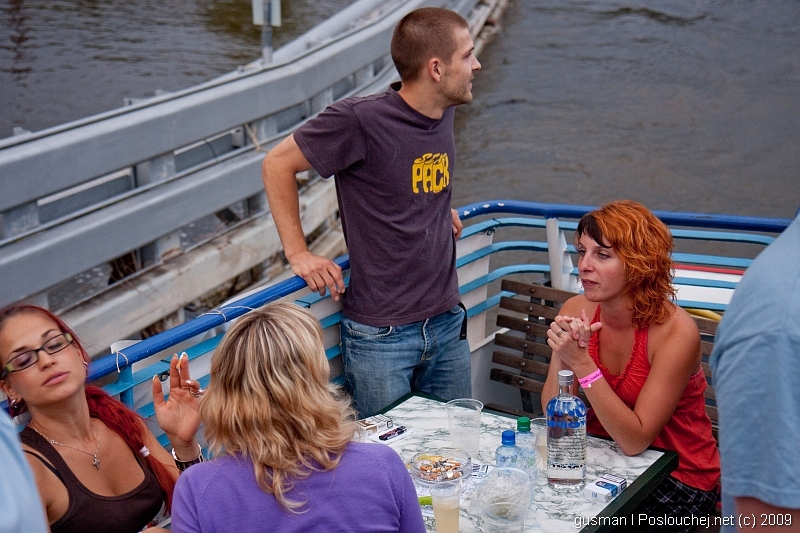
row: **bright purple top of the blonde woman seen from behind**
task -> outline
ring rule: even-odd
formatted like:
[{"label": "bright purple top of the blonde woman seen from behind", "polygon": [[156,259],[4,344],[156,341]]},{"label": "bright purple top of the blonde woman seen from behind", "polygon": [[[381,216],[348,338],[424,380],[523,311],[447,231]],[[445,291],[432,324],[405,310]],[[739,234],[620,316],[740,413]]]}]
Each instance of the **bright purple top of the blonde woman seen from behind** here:
[{"label": "bright purple top of the blonde woman seen from behind", "polygon": [[350,443],[334,470],[314,472],[287,494],[306,499],[286,511],[256,483],[253,463],[225,456],[181,474],[172,501],[176,533],[424,533],[414,483],[383,444]]}]

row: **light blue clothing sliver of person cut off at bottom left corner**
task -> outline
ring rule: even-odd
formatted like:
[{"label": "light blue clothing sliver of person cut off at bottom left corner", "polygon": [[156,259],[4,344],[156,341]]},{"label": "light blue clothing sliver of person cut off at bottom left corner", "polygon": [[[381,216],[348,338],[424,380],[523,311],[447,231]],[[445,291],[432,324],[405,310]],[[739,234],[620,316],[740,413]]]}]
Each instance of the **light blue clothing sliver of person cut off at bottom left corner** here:
[{"label": "light blue clothing sliver of person cut off at bottom left corner", "polygon": [[0,413],[0,533],[45,533],[44,508],[11,419]]}]

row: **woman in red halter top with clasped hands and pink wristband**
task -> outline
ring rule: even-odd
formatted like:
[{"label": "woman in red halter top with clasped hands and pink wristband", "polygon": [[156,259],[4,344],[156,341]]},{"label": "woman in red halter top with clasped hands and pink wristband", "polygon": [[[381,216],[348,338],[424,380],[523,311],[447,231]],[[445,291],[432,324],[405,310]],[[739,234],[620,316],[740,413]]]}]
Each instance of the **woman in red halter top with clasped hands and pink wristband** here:
[{"label": "woman in red halter top with clasped hands and pink wristband", "polygon": [[610,436],[626,455],[651,445],[678,452],[678,468],[636,512],[707,516],[719,453],[700,334],[673,303],[672,235],[641,204],[618,201],[580,220],[575,248],[583,294],[564,303],[547,332],[553,355],[542,406],[558,394],[558,371],[572,370],[591,403],[587,431]]}]

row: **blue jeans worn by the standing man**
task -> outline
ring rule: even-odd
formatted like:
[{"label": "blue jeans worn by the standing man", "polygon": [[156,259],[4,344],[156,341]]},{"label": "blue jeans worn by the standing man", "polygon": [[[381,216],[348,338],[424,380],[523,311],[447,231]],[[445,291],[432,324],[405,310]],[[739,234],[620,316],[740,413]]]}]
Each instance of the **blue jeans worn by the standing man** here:
[{"label": "blue jeans worn by the standing man", "polygon": [[459,306],[402,326],[367,326],[343,317],[345,379],[359,418],[412,391],[445,400],[469,398],[469,342],[459,338],[463,320]]}]

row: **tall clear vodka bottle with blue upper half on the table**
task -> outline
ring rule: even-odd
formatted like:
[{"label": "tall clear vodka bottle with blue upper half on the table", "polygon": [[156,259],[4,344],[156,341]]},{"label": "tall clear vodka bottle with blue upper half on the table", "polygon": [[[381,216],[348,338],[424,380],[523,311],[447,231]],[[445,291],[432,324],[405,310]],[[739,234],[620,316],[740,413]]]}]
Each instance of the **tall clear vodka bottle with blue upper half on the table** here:
[{"label": "tall clear vodka bottle with blue upper half on the table", "polygon": [[558,373],[560,392],[547,403],[547,483],[579,491],[586,479],[586,405],[573,396],[572,370]]}]

